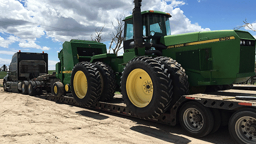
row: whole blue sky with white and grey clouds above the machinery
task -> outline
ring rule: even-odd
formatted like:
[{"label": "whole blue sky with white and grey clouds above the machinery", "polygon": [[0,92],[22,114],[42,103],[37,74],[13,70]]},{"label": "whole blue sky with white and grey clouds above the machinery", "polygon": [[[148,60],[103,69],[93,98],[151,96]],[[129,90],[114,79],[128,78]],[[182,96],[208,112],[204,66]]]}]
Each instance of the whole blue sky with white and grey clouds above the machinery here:
[{"label": "whole blue sky with white and grey clouds above the machinery", "polygon": [[[233,29],[245,19],[256,29],[255,5],[255,0],[143,0],[142,11],[170,13],[171,34],[176,35]],[[44,51],[54,70],[64,41],[90,40],[104,24],[102,42],[108,47],[112,21],[117,14],[131,15],[133,7],[133,0],[0,0],[0,66],[9,65],[19,50]],[[256,37],[248,28],[240,30]]]}]

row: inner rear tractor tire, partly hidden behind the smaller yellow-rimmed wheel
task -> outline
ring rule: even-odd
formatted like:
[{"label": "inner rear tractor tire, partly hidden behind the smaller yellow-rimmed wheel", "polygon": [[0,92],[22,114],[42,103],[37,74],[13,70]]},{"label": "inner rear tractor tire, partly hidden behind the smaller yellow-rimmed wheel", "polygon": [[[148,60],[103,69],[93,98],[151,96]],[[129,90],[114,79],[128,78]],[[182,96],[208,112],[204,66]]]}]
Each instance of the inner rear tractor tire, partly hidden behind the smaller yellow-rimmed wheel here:
[{"label": "inner rear tractor tire, partly hidden behind the smaller yellow-rimmed wheel", "polygon": [[101,96],[99,101],[106,102],[115,95],[116,79],[115,73],[110,66],[103,62],[94,62],[95,67],[101,75]]}]

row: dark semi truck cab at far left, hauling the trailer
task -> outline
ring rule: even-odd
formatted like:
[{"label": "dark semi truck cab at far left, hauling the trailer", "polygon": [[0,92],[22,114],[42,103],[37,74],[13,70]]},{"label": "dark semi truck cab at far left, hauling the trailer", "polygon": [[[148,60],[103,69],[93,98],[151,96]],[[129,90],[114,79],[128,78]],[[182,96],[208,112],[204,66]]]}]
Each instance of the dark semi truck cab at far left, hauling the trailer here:
[{"label": "dark semi truck cab at far left, hauling the trailer", "polygon": [[[5,65],[4,65],[5,71]],[[17,52],[13,55],[10,69],[3,78],[5,91],[21,91],[21,82],[30,81],[48,73],[48,54]]]}]

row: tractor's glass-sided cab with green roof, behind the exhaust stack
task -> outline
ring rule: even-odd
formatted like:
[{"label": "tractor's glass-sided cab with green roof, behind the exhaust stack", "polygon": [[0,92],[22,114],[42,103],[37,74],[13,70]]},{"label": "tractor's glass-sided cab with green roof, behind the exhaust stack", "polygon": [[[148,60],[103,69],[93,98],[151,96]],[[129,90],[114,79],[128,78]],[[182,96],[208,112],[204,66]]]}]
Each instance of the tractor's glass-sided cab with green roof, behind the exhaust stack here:
[{"label": "tractor's glass-sided cab with green roof, behind the exhaust stack", "polygon": [[[160,11],[143,11],[142,16],[142,34],[143,40],[145,42],[151,42],[154,44],[160,43],[160,38],[163,36],[171,35],[169,18],[171,15],[169,13],[164,13]],[[125,30],[124,30],[124,49],[134,48],[132,41],[133,37],[133,20],[132,15],[126,17],[125,20]]]}]

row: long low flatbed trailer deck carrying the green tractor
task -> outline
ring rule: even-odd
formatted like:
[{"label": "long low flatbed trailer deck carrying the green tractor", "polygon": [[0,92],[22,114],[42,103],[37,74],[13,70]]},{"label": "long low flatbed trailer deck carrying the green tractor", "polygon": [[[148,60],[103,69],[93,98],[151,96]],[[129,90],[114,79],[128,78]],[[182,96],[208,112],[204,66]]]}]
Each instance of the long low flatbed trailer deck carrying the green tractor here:
[{"label": "long low flatbed trailer deck carrying the green tractor", "polygon": [[[244,86],[245,89],[248,87]],[[234,88],[236,88],[234,86]],[[225,91],[216,91],[208,94],[194,94],[194,95],[187,95],[182,96],[177,103],[175,103],[171,110],[168,110],[161,116],[150,119],[150,121],[155,121],[158,123],[164,123],[169,125],[175,125],[176,124],[176,114],[177,110],[182,103],[187,101],[197,101],[201,104],[203,104],[206,107],[211,108],[218,108],[223,110],[231,110],[235,111],[239,108],[245,108],[245,107],[255,107],[256,108],[256,101],[244,101],[244,100],[236,100],[235,96],[256,96],[256,91],[252,90],[237,90],[237,89],[231,89],[231,90],[225,90]],[[73,98],[72,95],[66,95],[64,97],[55,97],[54,95],[48,95],[46,100],[59,102],[59,103],[66,103],[66,104],[72,104],[72,105],[79,105]],[[85,107],[86,106],[82,106]],[[111,99],[108,102],[97,102],[94,103],[89,108],[95,108],[95,109],[101,109],[103,111],[109,111],[113,113],[119,113],[122,115],[132,116],[136,117],[135,114],[133,114],[129,109],[126,107],[126,104],[124,103],[122,99],[122,95],[115,95],[113,99]]]}]

